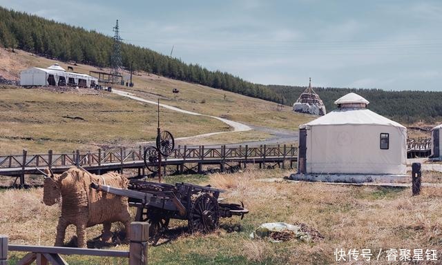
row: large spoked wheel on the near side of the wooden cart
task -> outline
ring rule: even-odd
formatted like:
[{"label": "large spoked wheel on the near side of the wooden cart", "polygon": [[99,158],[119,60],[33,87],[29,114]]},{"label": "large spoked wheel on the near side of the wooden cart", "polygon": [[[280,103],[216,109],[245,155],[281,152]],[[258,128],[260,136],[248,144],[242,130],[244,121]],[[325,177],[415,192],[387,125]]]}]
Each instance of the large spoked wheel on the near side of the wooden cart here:
[{"label": "large spoked wheel on the near side of the wooden cart", "polygon": [[211,233],[218,228],[219,221],[220,210],[217,199],[209,193],[201,193],[189,211],[189,232]]}]

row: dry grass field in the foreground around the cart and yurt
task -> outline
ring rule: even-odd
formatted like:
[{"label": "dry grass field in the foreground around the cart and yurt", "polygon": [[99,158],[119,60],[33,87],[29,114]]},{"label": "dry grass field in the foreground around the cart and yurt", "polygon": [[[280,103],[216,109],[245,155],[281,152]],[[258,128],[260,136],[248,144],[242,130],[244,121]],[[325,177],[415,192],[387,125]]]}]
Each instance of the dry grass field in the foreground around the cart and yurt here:
[{"label": "dry grass field in the foreground around the cart and yurt", "polygon": [[[220,229],[210,235],[189,235],[186,222],[171,222],[174,239],[151,246],[149,264],[336,264],[334,251],[370,249],[375,264],[388,262],[390,248],[435,249],[441,255],[442,188],[423,188],[412,197],[410,188],[342,186],[319,183],[293,183],[282,179],[289,171],[247,170],[209,177],[189,175],[167,177],[166,181],[191,181],[224,188],[229,202],[244,202],[250,213],[222,219]],[[436,173],[442,177],[440,173]],[[281,181],[262,179],[278,177]],[[425,174],[424,174],[425,177]],[[0,233],[15,244],[52,245],[59,206],[41,204],[42,189],[0,192]],[[323,241],[305,243],[291,240],[272,243],[249,239],[254,228],[265,222],[304,223],[323,235]],[[119,230],[122,226],[115,225]],[[101,226],[88,228],[88,239],[97,237]],[[68,228],[66,242],[74,235]],[[125,244],[113,246],[127,249]],[[12,253],[17,259],[23,253]],[[125,259],[66,257],[70,264],[126,264]],[[362,264],[359,262],[350,264]],[[349,262],[340,262],[344,264]],[[429,264],[436,264],[430,263]],[[11,262],[14,264],[14,262]]]}]

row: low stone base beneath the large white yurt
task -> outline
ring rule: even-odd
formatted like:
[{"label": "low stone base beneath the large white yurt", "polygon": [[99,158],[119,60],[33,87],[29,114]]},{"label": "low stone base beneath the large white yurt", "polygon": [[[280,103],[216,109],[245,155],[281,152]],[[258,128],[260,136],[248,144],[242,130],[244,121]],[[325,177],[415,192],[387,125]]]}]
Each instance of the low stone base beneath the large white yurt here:
[{"label": "low stone base beneath the large white yurt", "polygon": [[342,182],[342,183],[404,183],[410,181],[409,175],[357,175],[357,174],[291,174],[290,179],[300,181]]}]

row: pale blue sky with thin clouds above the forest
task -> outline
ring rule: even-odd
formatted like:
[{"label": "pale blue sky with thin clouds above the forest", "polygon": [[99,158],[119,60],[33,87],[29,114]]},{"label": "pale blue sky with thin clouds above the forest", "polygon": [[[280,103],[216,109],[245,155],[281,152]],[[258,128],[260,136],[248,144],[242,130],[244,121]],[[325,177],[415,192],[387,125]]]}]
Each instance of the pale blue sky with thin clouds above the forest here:
[{"label": "pale blue sky with thin clouds above the forest", "polygon": [[259,84],[442,90],[442,1],[0,0]]}]

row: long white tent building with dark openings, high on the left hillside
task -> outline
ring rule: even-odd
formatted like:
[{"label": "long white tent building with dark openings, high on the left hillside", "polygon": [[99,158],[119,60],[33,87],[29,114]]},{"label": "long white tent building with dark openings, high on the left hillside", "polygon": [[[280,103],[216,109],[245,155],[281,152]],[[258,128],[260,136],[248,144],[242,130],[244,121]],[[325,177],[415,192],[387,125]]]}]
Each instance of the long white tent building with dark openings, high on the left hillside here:
[{"label": "long white tent building with dark openings, high on the left hillside", "polygon": [[55,63],[48,68],[32,67],[20,72],[21,86],[78,86],[90,88],[98,84],[96,77],[66,72],[64,68]]}]

